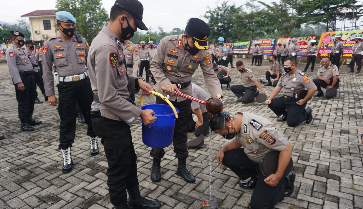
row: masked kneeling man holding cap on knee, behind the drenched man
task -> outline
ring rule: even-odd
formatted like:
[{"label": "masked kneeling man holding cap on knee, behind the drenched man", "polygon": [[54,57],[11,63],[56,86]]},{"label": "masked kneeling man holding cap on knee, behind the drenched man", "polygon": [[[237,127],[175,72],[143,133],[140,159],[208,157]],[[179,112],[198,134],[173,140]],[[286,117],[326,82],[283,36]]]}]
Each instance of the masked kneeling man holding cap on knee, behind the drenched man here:
[{"label": "masked kneeling man holding cap on knee, behind the drenched man", "polygon": [[[310,123],[313,120],[311,114],[313,110],[310,107],[305,109],[306,102],[318,88],[305,73],[297,68],[295,57],[286,58],[284,70],[285,73],[282,74],[270,98],[265,103],[277,116],[282,115],[277,121],[287,121],[287,125],[290,127],[295,127],[303,121]],[[284,96],[273,99],[282,88],[284,88]],[[309,92],[303,99],[297,101],[294,93],[300,93],[305,88],[309,89]]]}]

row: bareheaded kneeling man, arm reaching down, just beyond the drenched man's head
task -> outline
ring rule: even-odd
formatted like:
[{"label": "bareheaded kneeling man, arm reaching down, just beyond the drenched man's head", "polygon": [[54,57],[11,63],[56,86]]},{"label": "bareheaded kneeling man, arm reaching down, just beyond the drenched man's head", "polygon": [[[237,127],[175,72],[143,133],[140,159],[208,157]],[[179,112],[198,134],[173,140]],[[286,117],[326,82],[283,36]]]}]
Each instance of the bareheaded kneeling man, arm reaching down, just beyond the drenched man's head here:
[{"label": "bareheaded kneeling man, arm reaching down, just beyond the drenched man's head", "polygon": [[237,96],[237,101],[241,101],[242,103],[253,102],[254,98],[260,94],[257,87],[261,90],[262,94],[265,94],[260,83],[257,82],[252,70],[245,68],[242,61],[237,61],[236,66],[242,85],[232,85],[231,91]]}]

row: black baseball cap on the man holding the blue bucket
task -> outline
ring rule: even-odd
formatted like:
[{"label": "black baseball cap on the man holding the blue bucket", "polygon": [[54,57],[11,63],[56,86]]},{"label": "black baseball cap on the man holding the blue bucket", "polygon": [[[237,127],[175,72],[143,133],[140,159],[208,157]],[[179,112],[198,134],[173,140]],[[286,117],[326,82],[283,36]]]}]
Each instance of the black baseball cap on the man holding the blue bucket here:
[{"label": "black baseball cap on the man holding the blue bucket", "polygon": [[142,21],[142,14],[144,12],[144,7],[138,0],[116,0],[115,6],[129,12],[134,18],[137,27],[140,30],[148,30],[144,22]]}]

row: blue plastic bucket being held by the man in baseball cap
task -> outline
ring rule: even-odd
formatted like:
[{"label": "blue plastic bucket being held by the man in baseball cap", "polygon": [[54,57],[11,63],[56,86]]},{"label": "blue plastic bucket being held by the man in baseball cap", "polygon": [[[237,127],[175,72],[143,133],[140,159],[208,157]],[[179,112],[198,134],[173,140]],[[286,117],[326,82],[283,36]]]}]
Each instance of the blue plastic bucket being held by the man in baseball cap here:
[{"label": "blue plastic bucket being held by the man in baseball cap", "polygon": [[[169,105],[144,105],[142,110],[154,110],[156,119],[154,123],[145,125],[141,120],[142,142],[152,148],[164,148],[170,146],[173,142],[175,114]],[[175,108],[179,114],[179,110]]]}]

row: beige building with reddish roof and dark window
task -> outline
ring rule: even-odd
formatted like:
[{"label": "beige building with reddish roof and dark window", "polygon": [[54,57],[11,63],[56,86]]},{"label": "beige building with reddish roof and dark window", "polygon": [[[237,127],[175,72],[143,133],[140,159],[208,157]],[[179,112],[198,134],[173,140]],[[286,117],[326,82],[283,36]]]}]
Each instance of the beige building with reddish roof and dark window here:
[{"label": "beige building with reddish roof and dark window", "polygon": [[29,12],[21,17],[29,17],[30,31],[32,40],[40,44],[44,44],[46,40],[57,36],[56,31],[56,15],[54,9],[36,10]]}]

